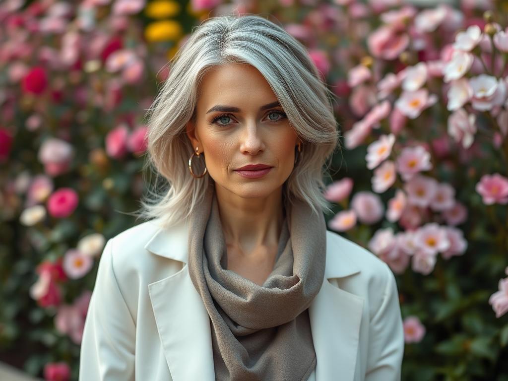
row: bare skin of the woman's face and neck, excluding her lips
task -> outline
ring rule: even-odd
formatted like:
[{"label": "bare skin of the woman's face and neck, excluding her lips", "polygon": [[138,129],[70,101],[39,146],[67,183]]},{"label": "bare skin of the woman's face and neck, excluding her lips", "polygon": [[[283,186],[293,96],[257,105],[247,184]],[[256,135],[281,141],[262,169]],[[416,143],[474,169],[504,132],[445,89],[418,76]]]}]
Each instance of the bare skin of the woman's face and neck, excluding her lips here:
[{"label": "bare skin of the woman's face and neck, excluding her lips", "polygon": [[[227,269],[262,285],[273,270],[284,218],[282,184],[301,141],[269,83],[251,65],[214,68],[199,94],[196,124],[189,121],[186,133],[215,181]],[[272,168],[259,178],[235,172],[249,164]]]}]

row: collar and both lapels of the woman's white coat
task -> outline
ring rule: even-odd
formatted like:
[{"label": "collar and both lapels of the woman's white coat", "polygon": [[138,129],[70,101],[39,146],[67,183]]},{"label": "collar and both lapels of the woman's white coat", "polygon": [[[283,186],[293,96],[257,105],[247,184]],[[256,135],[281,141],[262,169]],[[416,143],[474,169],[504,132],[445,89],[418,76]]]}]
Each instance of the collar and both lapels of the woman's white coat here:
[{"label": "collar and both lapels of the woman's white coat", "polygon": [[[155,255],[187,263],[186,224],[159,228],[144,246]],[[353,381],[364,300],[332,285],[327,279],[360,272],[348,258],[344,241],[327,232],[323,285],[309,307],[312,341],[317,357],[316,381],[341,375]],[[148,285],[157,330],[174,381],[214,381],[210,320],[188,266]]]}]

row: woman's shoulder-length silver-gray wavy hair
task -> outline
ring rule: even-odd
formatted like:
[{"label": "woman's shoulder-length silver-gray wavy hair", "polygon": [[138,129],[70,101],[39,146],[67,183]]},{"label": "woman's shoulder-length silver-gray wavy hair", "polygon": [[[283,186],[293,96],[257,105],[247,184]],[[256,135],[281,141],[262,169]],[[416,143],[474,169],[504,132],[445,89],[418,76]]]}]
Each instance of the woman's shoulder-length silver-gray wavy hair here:
[{"label": "woman's shoulder-length silver-gray wavy hair", "polygon": [[[193,28],[169,62],[169,77],[148,109],[145,168],[151,167],[157,181],[141,200],[138,218],[161,218],[164,226],[171,226],[203,199],[210,176],[198,179],[189,172],[194,149],[185,125],[196,118],[203,77],[228,63],[247,63],[261,72],[303,142],[298,162],[284,184],[285,196],[290,202],[307,202],[314,211],[328,209],[323,176],[338,141],[333,93],[307,49],[282,27],[257,15],[223,15]],[[159,175],[164,177],[162,187]]]}]

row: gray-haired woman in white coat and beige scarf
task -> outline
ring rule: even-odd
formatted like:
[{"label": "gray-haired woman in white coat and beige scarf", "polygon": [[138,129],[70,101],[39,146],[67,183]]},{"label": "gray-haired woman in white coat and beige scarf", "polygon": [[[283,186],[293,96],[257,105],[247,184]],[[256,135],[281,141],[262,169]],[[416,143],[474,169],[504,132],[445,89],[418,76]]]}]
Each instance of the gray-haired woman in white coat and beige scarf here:
[{"label": "gray-haired woman in white coat and beige scarf", "polygon": [[270,21],[193,32],[150,109],[170,186],[104,249],[80,380],[400,379],[394,276],[326,231],[329,95]]}]

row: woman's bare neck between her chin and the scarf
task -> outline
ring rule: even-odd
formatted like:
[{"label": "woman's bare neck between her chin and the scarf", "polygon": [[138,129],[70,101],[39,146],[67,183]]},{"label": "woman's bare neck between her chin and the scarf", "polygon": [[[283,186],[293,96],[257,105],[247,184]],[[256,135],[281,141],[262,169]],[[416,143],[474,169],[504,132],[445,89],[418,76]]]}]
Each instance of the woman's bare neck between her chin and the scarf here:
[{"label": "woman's bare neck between her chin and the scarf", "polygon": [[284,219],[282,186],[259,199],[243,199],[217,184],[215,192],[227,245],[247,255],[259,246],[277,245]]}]

